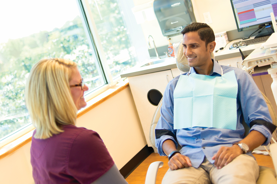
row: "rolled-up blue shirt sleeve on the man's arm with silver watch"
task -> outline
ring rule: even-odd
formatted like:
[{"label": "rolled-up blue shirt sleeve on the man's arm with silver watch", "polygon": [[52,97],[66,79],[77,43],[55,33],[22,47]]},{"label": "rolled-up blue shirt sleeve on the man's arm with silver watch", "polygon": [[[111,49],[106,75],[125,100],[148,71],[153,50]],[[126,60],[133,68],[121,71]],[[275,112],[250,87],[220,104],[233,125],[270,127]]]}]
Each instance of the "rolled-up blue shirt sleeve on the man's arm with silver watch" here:
[{"label": "rolled-up blue shirt sleeve on the man's arm with silver watch", "polygon": [[276,126],[272,124],[263,95],[254,80],[245,71],[242,72],[238,83],[240,83],[238,96],[244,121],[251,128],[250,132],[252,130],[261,132],[267,138],[262,145],[268,145]]}]

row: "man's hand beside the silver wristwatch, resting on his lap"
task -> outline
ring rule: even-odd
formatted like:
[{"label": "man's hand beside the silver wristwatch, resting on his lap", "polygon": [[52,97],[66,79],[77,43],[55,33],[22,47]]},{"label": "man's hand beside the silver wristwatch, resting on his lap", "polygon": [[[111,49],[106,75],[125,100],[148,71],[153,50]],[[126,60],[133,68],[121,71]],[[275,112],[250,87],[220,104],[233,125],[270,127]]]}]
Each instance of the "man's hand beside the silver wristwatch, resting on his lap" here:
[{"label": "man's hand beside the silver wristwatch, resting on his lap", "polygon": [[243,154],[243,150],[239,145],[234,144],[231,147],[222,146],[217,153],[212,157],[212,160],[215,160],[215,167],[221,169],[230,163],[237,156]]}]

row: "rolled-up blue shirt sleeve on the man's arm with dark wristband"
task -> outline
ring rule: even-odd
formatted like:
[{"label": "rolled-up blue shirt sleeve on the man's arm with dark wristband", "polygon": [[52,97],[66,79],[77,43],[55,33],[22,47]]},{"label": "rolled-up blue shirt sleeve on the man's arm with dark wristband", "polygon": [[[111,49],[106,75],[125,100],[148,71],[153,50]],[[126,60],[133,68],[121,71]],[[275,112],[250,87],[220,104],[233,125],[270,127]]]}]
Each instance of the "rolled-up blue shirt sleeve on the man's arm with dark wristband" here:
[{"label": "rolled-up blue shirt sleeve on the man's arm with dark wristband", "polygon": [[[179,77],[176,78],[179,79]],[[166,90],[163,95],[163,104],[160,109],[161,116],[155,128],[155,145],[158,148],[158,153],[161,156],[166,156],[162,149],[162,145],[165,140],[172,140],[175,143],[176,148],[178,147],[178,143],[176,140],[176,130],[174,131],[173,128],[173,92],[176,86],[173,83],[178,82],[176,78],[171,80],[167,84]]]}]

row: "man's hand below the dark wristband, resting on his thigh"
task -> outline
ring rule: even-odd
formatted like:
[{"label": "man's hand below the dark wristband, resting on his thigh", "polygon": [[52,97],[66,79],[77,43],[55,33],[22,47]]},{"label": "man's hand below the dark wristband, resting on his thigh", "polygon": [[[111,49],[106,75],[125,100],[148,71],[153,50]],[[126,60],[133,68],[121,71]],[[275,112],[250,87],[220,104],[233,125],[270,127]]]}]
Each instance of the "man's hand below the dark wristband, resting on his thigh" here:
[{"label": "man's hand below the dark wristband, resting on his thigh", "polygon": [[180,153],[176,153],[168,162],[169,168],[173,170],[182,169],[184,167],[191,167],[191,160]]}]

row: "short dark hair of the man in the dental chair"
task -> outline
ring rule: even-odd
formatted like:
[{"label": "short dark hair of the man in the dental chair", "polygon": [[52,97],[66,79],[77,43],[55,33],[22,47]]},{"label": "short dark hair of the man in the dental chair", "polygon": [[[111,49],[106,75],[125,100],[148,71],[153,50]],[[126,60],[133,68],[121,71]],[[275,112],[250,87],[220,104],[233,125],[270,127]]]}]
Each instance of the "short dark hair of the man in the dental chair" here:
[{"label": "short dark hair of the man in the dental chair", "polygon": [[184,34],[189,32],[197,32],[200,39],[205,41],[206,47],[209,43],[215,41],[215,33],[211,27],[205,23],[194,22],[192,24],[187,25],[183,31],[181,32]]}]

